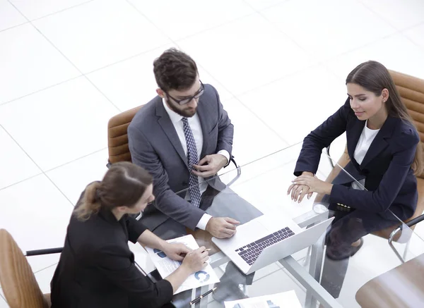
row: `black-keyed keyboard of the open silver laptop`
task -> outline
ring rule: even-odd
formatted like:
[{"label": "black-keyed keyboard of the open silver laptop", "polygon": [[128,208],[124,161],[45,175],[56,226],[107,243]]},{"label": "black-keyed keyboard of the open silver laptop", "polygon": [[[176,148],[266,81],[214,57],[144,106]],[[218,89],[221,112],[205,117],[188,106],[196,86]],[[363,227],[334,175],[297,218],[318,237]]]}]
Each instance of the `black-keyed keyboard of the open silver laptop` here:
[{"label": "black-keyed keyboard of the open silver laptop", "polygon": [[254,261],[258,259],[259,254],[261,254],[262,250],[266,247],[275,244],[276,242],[281,242],[285,238],[289,238],[290,236],[295,235],[295,233],[290,230],[290,228],[282,228],[270,235],[265,236],[259,240],[255,240],[250,244],[247,244],[239,249],[235,250],[242,257],[243,260],[246,261],[247,264],[252,265]]}]

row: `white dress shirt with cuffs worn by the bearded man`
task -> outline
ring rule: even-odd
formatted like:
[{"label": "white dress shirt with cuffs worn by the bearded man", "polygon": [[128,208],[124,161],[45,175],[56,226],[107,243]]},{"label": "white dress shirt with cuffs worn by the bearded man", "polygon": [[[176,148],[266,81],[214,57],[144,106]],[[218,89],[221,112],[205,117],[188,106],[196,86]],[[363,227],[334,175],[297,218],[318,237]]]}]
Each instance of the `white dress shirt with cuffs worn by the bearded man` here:
[{"label": "white dress shirt with cuffs worn by the bearded man", "polygon": [[[171,122],[174,125],[175,130],[177,131],[179,142],[181,142],[182,149],[184,149],[184,154],[187,156],[187,141],[185,139],[184,126],[183,126],[183,123],[182,123],[183,116],[180,116],[175,111],[172,111],[170,109],[170,107],[167,106],[165,99],[162,99],[162,101],[163,101],[163,106],[165,107],[165,110],[166,110],[168,116],[170,116]],[[200,119],[199,119],[199,116],[197,115],[197,113],[195,113],[194,116],[192,116],[191,118],[187,118],[187,120],[188,120],[190,128],[192,130],[194,141],[196,142],[197,159],[198,159],[198,161],[200,161],[201,150],[203,148],[203,132],[201,130]],[[225,149],[220,150],[217,154],[221,154],[221,155],[225,156],[227,161],[230,161],[230,153],[228,153],[228,151],[226,151]],[[202,178],[201,176],[199,176],[198,178],[199,178],[200,193],[203,194],[205,192],[206,188],[208,187],[208,185],[207,185],[207,183],[205,183],[204,178]],[[186,200],[190,199],[189,190],[187,190],[185,199]],[[208,221],[211,218],[212,218],[211,215],[205,213],[203,216],[201,216],[200,221],[199,221],[199,223],[197,223],[196,227],[199,228],[199,229],[205,230],[206,225],[208,224]]]}]

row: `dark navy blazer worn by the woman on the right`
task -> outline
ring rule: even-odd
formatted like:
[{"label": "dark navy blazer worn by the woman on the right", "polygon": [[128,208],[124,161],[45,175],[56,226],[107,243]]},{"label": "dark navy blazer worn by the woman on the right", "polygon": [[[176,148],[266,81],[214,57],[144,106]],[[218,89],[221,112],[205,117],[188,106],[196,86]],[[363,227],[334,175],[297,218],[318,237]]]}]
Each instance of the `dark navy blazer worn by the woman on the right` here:
[{"label": "dark navy blazer worn by the woman on the right", "polygon": [[[418,202],[417,180],[411,164],[420,137],[416,128],[401,118],[389,116],[379,130],[363,162],[353,158],[365,121],[360,121],[351,109],[349,99],[322,125],[305,137],[295,168],[295,175],[302,171],[317,172],[319,158],[324,147],[346,131],[348,154],[351,158],[346,171],[356,179],[365,178],[367,190],[353,190],[346,173],[334,180],[330,202],[339,202],[355,209],[379,213],[386,218],[401,219],[413,215]],[[344,178],[343,178],[344,177]]]}]

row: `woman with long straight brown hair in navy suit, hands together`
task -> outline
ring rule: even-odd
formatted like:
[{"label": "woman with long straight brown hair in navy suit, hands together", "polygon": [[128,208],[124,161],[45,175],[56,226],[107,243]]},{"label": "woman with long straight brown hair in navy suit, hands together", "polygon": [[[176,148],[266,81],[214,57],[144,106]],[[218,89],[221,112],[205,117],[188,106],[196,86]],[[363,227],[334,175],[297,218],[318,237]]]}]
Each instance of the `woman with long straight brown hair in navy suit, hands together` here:
[{"label": "woman with long straight brown hair in navy suit, hands together", "polygon": [[[387,68],[376,61],[362,63],[349,73],[346,87],[346,103],[305,137],[295,167],[298,178],[288,189],[298,202],[312,192],[325,195],[335,213],[326,236],[322,277],[334,297],[341,290],[348,258],[363,245],[363,236],[413,216],[416,174],[423,171],[418,131]],[[322,149],[344,132],[348,164],[342,167],[355,180],[343,172],[332,183],[319,180],[314,174]]]}]

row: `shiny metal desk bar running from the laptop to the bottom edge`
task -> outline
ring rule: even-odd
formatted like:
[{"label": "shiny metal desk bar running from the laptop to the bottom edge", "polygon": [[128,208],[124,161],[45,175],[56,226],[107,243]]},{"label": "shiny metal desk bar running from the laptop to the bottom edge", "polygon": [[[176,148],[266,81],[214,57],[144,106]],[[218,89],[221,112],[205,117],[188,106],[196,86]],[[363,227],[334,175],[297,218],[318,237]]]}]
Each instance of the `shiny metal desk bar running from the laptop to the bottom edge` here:
[{"label": "shiny metal desk bar running from the laptop to the bottom edge", "polygon": [[[312,247],[313,249],[313,247]],[[312,292],[312,296],[319,300],[319,302],[326,308],[343,308],[329,292],[327,292],[322,285],[318,283],[310,273],[308,273],[298,261],[293,257],[285,257],[280,260],[281,265],[285,267],[305,288]]]}]

